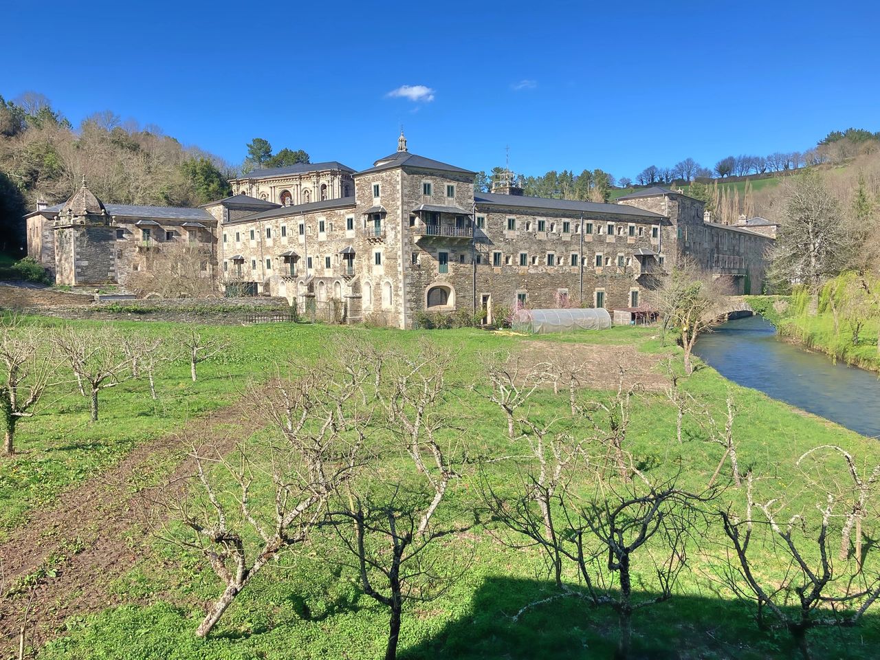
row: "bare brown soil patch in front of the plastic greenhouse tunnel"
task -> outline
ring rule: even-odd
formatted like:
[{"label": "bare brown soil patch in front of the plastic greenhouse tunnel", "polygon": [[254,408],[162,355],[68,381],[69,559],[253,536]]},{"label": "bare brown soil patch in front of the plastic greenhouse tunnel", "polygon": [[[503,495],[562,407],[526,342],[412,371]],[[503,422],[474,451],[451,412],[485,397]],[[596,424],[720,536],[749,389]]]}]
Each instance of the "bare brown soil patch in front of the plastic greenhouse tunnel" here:
[{"label": "bare brown soil patch in front of the plastic greenhouse tunnel", "polygon": [[[521,372],[542,363],[552,365],[551,373],[561,373],[561,383],[568,387],[566,374],[573,368],[580,387],[616,390],[641,385],[648,392],[662,392],[669,380],[658,365],[664,356],[640,353],[634,346],[562,343],[559,341],[523,341],[516,356]],[[622,372],[622,375],[621,375]],[[552,385],[548,385],[552,386]]]}]

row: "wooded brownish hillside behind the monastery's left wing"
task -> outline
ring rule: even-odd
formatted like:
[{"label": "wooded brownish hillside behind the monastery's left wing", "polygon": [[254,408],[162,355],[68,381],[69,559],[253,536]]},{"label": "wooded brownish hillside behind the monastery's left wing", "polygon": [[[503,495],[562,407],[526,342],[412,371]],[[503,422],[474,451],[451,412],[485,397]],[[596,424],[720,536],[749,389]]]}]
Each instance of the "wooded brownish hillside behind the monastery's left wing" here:
[{"label": "wooded brownish hillside behind the monastery's left wing", "polygon": [[105,111],[75,128],[40,94],[0,96],[0,251],[20,254],[22,216],[38,199],[63,202],[83,177],[106,202],[191,207],[228,194],[228,170],[150,124]]}]

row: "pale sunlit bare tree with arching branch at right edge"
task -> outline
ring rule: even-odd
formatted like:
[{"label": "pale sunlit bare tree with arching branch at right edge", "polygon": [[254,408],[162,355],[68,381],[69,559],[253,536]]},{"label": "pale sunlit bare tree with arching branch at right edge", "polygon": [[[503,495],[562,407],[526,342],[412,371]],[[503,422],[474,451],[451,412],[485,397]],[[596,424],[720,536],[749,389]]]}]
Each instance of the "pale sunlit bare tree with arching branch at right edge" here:
[{"label": "pale sunlit bare tree with arching branch at right edge", "polygon": [[[852,454],[839,447],[836,444],[823,444],[814,447],[810,451],[805,451],[801,458],[797,459],[798,466],[804,466],[808,458],[816,458],[822,460],[823,463],[831,463],[829,460],[833,455],[843,458],[846,463],[846,472],[852,480],[848,487],[839,489],[835,494],[843,502],[851,502],[849,510],[845,514],[846,522],[840,531],[840,559],[845,560],[849,557],[850,547],[854,546],[855,561],[858,567],[862,568],[862,520],[868,514],[868,498],[873,494],[877,480],[880,480],[880,466],[874,468],[868,473],[867,478],[862,477],[859,472],[859,466],[856,465]],[[824,459],[824,460],[823,460]],[[840,472],[836,466],[830,469]],[[836,473],[829,475],[822,473],[813,481],[814,484],[823,485],[825,488],[836,481]],[[855,529],[855,543],[852,542],[853,529]]]}]

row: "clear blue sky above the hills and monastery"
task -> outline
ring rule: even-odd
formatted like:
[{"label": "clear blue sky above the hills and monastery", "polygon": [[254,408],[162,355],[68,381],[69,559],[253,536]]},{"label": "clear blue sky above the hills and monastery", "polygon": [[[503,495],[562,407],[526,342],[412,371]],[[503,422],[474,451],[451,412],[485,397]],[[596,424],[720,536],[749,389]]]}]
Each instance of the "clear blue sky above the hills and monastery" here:
[{"label": "clear blue sky above the hills and monastery", "polygon": [[18,2],[0,94],[42,92],[75,125],[109,109],[235,164],[260,136],[359,169],[403,124],[410,150],[474,170],[510,145],[517,172],[634,177],[880,130],[877,5]]}]

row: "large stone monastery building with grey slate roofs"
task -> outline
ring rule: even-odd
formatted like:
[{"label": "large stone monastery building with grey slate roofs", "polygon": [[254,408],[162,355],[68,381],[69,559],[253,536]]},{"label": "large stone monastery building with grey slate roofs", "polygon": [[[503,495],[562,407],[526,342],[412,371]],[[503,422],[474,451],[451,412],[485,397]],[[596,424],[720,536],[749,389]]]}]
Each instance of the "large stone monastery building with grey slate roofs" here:
[{"label": "large stone monastery building with grey slate roofs", "polygon": [[420,312],[649,303],[689,257],[758,293],[773,238],[704,220],[663,187],[617,203],[523,195],[509,175],[474,193],[474,172],[398,148],[356,172],[337,162],[250,172],[200,209],[103,204],[83,187],[27,216],[28,253],[62,284],[119,283],[176,242],[203,246],[218,286],[333,308],[348,322],[411,327]]}]

